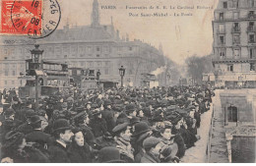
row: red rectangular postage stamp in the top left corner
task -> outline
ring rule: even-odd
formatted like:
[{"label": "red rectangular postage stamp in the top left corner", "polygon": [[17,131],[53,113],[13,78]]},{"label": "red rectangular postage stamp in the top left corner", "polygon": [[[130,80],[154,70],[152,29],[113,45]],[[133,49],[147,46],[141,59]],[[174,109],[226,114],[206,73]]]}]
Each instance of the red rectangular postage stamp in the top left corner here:
[{"label": "red rectangular postage stamp in the top left corner", "polygon": [[41,30],[42,0],[2,0],[2,34],[38,35]]}]

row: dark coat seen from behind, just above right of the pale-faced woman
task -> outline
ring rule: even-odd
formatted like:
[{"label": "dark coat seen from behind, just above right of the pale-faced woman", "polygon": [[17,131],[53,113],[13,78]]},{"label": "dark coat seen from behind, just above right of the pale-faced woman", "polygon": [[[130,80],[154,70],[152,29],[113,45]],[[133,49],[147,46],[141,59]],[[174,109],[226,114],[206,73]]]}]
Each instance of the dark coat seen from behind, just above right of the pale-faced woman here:
[{"label": "dark coat seen from behind, just above right of the pale-faced woman", "polygon": [[89,126],[93,129],[96,138],[103,136],[107,132],[106,122],[103,118],[95,117],[90,121]]}]

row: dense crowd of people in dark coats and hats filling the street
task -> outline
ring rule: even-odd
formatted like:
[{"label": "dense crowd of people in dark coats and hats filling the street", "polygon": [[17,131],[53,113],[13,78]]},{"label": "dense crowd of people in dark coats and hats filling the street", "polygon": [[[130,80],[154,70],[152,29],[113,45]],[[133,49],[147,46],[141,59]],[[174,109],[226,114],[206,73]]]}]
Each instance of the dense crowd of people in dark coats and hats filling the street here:
[{"label": "dense crowd of people in dark coats and hats filling the street", "polygon": [[200,139],[207,86],[57,92],[37,102],[5,90],[2,163],[178,163]]}]

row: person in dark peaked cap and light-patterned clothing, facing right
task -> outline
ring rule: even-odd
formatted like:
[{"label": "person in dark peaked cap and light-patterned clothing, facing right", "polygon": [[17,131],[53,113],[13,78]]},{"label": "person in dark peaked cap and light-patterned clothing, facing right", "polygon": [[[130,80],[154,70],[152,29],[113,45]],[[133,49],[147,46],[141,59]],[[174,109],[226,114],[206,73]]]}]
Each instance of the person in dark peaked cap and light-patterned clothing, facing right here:
[{"label": "person in dark peaked cap and light-patterned clothing, facing right", "polygon": [[121,154],[121,159],[127,163],[134,162],[134,149],[130,143],[131,140],[131,127],[129,127],[128,123],[123,123],[117,125],[113,130],[114,140],[116,142],[116,148],[119,150]]}]

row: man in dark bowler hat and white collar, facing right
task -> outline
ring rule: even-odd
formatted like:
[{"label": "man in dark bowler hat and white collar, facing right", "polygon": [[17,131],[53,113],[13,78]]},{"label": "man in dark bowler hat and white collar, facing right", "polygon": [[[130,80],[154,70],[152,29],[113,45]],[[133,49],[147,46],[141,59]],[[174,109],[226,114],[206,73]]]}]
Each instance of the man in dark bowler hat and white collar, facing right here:
[{"label": "man in dark bowler hat and white collar, facing right", "polygon": [[53,135],[55,141],[49,146],[48,151],[52,163],[70,162],[67,154],[67,145],[72,141],[74,134],[72,127],[65,119],[58,119],[53,124]]}]

